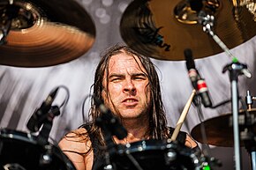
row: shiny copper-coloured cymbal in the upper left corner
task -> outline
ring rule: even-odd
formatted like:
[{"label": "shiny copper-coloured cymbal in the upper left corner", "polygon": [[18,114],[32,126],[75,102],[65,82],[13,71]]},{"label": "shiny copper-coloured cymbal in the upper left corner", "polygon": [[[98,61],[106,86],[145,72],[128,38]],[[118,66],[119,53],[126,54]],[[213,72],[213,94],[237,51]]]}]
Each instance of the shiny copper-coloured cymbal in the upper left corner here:
[{"label": "shiny copper-coloured cymbal in the upper left corner", "polygon": [[8,10],[14,9],[17,13],[11,18],[6,43],[0,45],[0,64],[43,67],[67,63],[94,44],[94,22],[75,1],[13,0],[9,4],[4,0],[0,2],[0,26],[8,22]]}]

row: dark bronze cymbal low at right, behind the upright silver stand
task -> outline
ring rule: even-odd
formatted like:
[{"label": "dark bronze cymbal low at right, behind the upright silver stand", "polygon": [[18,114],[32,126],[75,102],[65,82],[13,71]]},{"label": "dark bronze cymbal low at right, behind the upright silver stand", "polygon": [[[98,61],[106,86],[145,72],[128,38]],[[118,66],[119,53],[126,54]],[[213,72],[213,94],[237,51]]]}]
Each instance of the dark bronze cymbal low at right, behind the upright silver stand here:
[{"label": "dark bronze cymbal low at right, behind the upright silver stand", "polygon": [[[256,117],[256,109],[251,109],[248,111],[249,115]],[[245,111],[239,111],[239,122],[243,122],[245,118]],[[200,126],[203,125],[206,131],[207,142],[203,140],[201,135]],[[253,132],[256,132],[256,127],[253,126]],[[239,125],[239,131],[244,131],[245,125]],[[205,122],[196,125],[191,132],[192,137],[200,142],[201,144],[211,144],[215,146],[222,147],[233,147],[234,146],[234,135],[232,126],[232,114],[220,115]],[[240,138],[240,146],[244,146],[245,143]]]}]

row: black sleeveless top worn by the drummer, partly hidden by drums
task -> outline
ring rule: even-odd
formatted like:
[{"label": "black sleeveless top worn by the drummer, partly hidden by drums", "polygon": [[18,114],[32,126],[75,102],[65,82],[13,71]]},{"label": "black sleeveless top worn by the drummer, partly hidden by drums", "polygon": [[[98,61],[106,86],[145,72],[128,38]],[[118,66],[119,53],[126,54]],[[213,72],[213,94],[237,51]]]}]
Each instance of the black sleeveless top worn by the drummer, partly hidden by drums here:
[{"label": "black sleeveless top worn by the drummer, partly hidden by drums", "polygon": [[[84,125],[83,128],[88,129],[89,125]],[[169,131],[170,131],[170,134],[172,134],[174,129],[169,127]],[[94,137],[90,134],[89,134],[89,137],[91,139],[93,151],[94,151],[93,170],[102,170],[103,169],[102,167],[106,164],[105,152],[103,152],[102,149],[99,147],[100,144],[99,144],[99,140],[97,137]],[[184,145],[185,137],[186,137],[186,133],[184,131],[180,131],[177,136],[177,142],[179,144]],[[132,143],[133,145],[132,144],[131,145],[133,147],[133,150],[134,150],[134,148],[136,148],[137,144],[141,145],[142,142],[143,141]],[[149,145],[153,145],[154,147],[159,147],[159,148],[162,148],[162,146],[164,146],[164,144],[166,144],[165,140],[150,140],[149,139],[149,140],[146,140],[146,142]],[[120,151],[120,149],[118,149],[118,151]],[[118,153],[117,153],[117,157],[118,157]],[[115,160],[113,160],[113,161],[115,161]]]}]

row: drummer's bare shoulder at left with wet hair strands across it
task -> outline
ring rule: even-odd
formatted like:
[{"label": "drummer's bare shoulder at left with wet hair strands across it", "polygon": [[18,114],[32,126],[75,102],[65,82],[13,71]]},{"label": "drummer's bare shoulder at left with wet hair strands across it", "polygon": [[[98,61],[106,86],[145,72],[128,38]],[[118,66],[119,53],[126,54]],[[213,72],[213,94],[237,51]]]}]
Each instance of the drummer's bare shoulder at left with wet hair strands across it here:
[{"label": "drummer's bare shoulder at left with wet hair strands across it", "polygon": [[74,129],[67,133],[58,143],[63,151],[85,153],[91,146],[87,129]]}]

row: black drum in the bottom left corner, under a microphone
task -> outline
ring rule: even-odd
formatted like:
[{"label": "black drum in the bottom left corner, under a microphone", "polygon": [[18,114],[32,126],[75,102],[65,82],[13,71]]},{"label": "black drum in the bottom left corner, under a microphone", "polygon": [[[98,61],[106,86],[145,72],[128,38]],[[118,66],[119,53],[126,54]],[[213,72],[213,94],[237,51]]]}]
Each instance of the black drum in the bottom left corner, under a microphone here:
[{"label": "black drum in the bottom left corner, under a microphone", "polygon": [[0,130],[1,170],[75,170],[53,144],[40,145],[36,137],[17,130]]}]

